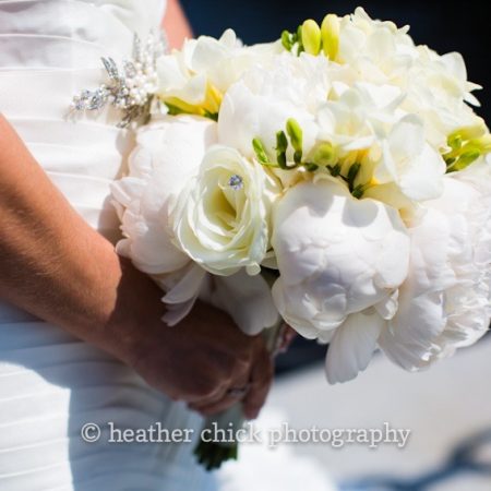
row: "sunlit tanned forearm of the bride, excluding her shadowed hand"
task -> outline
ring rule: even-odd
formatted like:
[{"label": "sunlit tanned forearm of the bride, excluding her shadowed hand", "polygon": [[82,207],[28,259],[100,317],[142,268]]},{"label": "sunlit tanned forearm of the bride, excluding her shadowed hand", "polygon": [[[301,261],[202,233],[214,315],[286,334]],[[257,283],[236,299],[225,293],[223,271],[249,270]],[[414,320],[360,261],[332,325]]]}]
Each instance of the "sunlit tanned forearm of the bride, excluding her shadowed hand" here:
[{"label": "sunlit tanned forearm of the bride, excluding her shadowed hand", "polygon": [[[101,347],[119,323],[115,343],[131,343],[144,314],[121,295],[131,266],[70,206],[2,118],[0,148],[0,297]],[[154,286],[141,283],[158,300]]]}]

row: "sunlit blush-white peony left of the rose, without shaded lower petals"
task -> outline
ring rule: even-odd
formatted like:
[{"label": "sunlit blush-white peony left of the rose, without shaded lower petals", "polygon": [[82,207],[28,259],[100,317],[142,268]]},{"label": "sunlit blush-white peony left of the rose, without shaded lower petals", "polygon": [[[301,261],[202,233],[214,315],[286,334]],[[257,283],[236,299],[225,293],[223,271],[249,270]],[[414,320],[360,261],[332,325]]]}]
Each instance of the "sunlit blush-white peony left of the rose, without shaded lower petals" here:
[{"label": "sunlit blush-white peony left of the rose, without shaded lower petals", "polygon": [[167,274],[188,264],[172,242],[169,206],[215,142],[216,123],[192,116],[166,117],[140,130],[129,176],[111,187],[125,237],[118,252],[139,270]]}]

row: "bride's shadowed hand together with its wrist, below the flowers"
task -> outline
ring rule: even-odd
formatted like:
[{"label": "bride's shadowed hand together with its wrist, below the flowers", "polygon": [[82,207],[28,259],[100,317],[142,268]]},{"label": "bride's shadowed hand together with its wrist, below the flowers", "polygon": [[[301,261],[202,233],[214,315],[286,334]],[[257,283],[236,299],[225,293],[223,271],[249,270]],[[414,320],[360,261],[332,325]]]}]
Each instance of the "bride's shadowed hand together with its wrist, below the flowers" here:
[{"label": "bride's shadowed hand together with its wrist, below the flowers", "polygon": [[[147,383],[192,409],[211,415],[243,397],[255,418],[273,380],[262,336],[247,336],[223,311],[196,302],[176,326],[161,321],[163,292],[129,261],[99,345],[133,367]],[[100,332],[100,330],[99,330]],[[247,393],[240,394],[246,387]]]}]

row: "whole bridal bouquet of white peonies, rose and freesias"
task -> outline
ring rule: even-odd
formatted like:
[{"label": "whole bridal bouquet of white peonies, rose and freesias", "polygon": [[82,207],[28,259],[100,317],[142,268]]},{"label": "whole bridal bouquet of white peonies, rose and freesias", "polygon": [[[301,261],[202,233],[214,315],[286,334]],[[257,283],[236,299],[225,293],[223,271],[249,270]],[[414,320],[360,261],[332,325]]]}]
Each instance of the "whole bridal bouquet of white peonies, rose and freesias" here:
[{"label": "whole bridal bouquet of white peonies, rose and freesias", "polygon": [[[357,9],[155,57],[112,191],[118,250],[165,290],[168,324],[197,298],[249,334],[283,319],[330,344],[331,383],[376,348],[419,370],[486,333],[491,135],[462,57],[407,33]],[[208,467],[235,453],[207,451]]]}]

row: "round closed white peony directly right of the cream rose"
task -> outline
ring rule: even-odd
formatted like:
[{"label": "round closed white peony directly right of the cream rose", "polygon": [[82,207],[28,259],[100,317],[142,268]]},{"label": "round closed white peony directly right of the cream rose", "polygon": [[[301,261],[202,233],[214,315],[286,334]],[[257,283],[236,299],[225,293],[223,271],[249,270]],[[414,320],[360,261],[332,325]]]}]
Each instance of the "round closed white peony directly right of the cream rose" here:
[{"label": "round closed white peony directly right of the cream rose", "polygon": [[397,212],[354,199],[337,181],[290,189],[275,204],[273,227],[280,272],[273,298],[308,338],[327,340],[349,314],[372,306],[387,310],[407,275],[409,238]]}]

